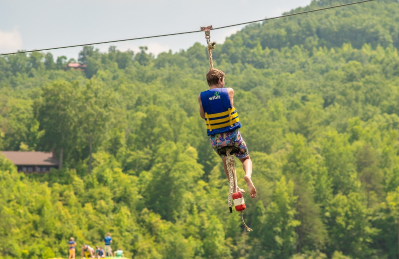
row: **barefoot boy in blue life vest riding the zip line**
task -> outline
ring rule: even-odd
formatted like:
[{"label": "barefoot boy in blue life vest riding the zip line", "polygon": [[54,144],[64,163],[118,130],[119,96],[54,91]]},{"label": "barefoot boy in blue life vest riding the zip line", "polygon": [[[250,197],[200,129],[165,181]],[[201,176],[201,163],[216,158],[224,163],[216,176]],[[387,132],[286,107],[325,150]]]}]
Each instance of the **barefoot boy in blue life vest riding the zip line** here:
[{"label": "barefoot boy in blue life vest riding the zip line", "polygon": [[[237,111],[233,106],[234,90],[224,88],[223,71],[211,68],[206,73],[206,81],[209,90],[203,91],[198,96],[200,103],[200,116],[205,120],[206,132],[210,137],[210,144],[216,151],[223,146],[235,146],[240,149],[234,155],[242,163],[245,175],[244,180],[248,187],[251,198],[256,197],[256,189],[252,183],[252,160],[249,157],[248,148],[240,131],[241,124],[238,119]],[[223,162],[224,173],[229,179],[226,156],[220,155]],[[238,187],[238,186],[237,186]],[[243,189],[238,191],[245,193]]]}]

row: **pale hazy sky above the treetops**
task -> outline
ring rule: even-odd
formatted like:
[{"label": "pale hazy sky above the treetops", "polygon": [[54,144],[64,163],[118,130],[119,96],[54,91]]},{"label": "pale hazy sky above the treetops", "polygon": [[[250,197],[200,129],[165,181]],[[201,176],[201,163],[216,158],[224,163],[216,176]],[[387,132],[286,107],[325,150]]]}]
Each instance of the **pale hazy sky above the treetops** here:
[{"label": "pale hazy sky above the treetops", "polygon": [[[122,40],[214,28],[282,15],[311,0],[0,0],[0,53]],[[304,14],[306,15],[306,14]],[[286,17],[283,19],[289,19]],[[210,31],[225,38],[245,25]],[[95,45],[137,52],[147,46],[155,55],[205,45],[204,32]],[[77,60],[83,47],[51,52]],[[3,56],[2,56],[3,57]]]}]

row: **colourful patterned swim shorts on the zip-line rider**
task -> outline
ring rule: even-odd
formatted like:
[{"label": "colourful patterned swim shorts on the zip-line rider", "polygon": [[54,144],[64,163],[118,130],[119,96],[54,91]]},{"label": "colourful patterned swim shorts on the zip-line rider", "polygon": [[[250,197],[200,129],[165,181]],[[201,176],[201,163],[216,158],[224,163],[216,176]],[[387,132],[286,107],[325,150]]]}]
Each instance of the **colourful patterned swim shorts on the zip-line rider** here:
[{"label": "colourful patterned swim shorts on the zip-line rider", "polygon": [[[213,150],[215,150],[216,153],[217,149],[229,145],[229,146],[236,146],[240,149],[238,153],[234,154],[235,157],[244,158],[249,155],[245,140],[242,138],[241,133],[238,129],[210,135],[210,145],[213,147]],[[220,158],[226,158],[225,155],[219,155],[219,156]]]}]

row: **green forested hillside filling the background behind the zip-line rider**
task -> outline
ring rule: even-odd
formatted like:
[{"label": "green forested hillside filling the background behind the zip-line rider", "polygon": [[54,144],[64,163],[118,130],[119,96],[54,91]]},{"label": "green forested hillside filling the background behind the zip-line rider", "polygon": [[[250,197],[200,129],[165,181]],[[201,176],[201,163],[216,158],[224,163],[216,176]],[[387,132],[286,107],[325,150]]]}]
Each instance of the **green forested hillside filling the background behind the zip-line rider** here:
[{"label": "green forested hillside filling the background behind the zip-line rider", "polygon": [[253,161],[253,232],[228,211],[199,115],[204,45],[86,46],[84,72],[1,56],[0,150],[54,148],[63,166],[25,175],[0,156],[0,259],[65,258],[70,237],[79,256],[107,232],[135,259],[398,258],[398,47],[399,2],[375,0],[248,25],[212,50]]}]

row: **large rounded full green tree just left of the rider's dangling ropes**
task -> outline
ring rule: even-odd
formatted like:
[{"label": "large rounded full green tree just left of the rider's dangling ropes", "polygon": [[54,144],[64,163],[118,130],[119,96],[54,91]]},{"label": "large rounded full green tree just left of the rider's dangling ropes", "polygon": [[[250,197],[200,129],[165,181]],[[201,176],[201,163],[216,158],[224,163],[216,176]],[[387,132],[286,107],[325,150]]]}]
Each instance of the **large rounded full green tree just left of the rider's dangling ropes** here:
[{"label": "large rounded full green tree just left of the rider's dangling ropes", "polygon": [[[197,181],[203,174],[197,163],[197,151],[190,146],[183,148],[180,144],[164,142],[156,154],[150,170],[156,177],[149,186],[149,194],[145,194],[147,206],[169,221],[187,218]],[[170,210],[171,207],[175,209]]]}]

